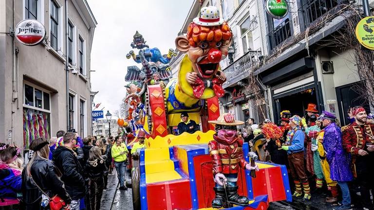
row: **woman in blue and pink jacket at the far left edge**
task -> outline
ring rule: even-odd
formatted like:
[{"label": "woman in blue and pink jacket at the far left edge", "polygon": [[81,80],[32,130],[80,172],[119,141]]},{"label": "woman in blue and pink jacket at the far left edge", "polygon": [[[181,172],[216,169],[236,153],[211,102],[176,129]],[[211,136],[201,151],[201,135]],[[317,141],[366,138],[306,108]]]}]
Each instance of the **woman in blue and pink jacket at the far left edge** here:
[{"label": "woman in blue and pink jacket at the far left edge", "polygon": [[21,149],[2,144],[0,151],[0,209],[18,210],[21,197]]}]

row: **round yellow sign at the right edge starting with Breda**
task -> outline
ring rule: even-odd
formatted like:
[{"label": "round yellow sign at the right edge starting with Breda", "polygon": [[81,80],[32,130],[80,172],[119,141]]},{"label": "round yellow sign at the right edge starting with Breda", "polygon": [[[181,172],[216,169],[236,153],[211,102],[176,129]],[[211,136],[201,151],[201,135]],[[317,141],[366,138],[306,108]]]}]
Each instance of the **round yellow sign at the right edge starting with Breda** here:
[{"label": "round yellow sign at the right edge starting with Breda", "polygon": [[356,25],[355,34],[362,46],[374,50],[374,16],[362,18]]}]

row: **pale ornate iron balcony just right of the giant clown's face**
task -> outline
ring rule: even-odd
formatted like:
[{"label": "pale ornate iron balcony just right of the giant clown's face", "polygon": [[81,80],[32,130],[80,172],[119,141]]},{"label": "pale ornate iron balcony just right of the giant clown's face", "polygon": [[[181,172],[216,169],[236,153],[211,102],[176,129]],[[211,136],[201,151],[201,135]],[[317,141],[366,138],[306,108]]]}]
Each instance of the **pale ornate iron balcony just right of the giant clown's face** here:
[{"label": "pale ornate iron balcony just right of the giant clown's face", "polygon": [[239,82],[241,79],[249,75],[249,69],[253,62],[259,60],[262,55],[261,51],[248,51],[242,57],[227,66],[223,71],[226,75],[224,88]]}]

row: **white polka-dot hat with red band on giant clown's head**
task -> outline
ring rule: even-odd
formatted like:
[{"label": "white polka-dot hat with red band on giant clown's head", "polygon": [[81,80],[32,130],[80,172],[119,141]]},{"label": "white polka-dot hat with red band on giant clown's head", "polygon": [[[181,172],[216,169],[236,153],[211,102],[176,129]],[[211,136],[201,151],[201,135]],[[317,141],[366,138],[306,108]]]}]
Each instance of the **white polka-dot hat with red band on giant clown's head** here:
[{"label": "white polka-dot hat with red band on giant clown's head", "polygon": [[224,22],[215,6],[203,7],[200,10],[200,17],[194,18],[193,22],[201,26],[217,26]]}]

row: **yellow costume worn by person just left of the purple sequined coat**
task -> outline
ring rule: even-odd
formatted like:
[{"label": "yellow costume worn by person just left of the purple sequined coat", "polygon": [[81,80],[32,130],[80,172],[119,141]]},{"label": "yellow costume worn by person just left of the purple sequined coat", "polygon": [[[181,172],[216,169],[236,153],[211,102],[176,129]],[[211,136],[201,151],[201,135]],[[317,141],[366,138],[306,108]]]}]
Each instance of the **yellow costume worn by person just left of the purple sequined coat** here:
[{"label": "yellow costume worn by person just left of the purple sequined coat", "polygon": [[323,145],[322,145],[324,133],[325,133],[324,130],[321,130],[318,133],[318,137],[317,137],[318,150],[317,151],[318,151],[319,157],[321,159],[322,173],[325,177],[325,181],[326,181],[326,184],[328,186],[328,189],[331,191],[333,197],[337,198],[338,195],[339,195],[339,192],[338,192],[338,189],[337,189],[337,182],[331,180],[331,178],[330,178],[330,165],[327,162],[325,149],[323,148]]}]

